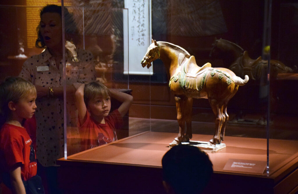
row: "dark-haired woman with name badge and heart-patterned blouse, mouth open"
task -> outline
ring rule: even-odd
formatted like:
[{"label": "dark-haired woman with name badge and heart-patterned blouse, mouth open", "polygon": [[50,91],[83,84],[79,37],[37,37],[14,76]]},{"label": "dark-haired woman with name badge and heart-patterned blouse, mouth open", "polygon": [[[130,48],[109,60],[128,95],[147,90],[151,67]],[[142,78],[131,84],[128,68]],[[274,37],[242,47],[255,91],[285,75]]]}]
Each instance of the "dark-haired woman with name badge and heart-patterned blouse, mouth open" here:
[{"label": "dark-haired woman with name badge and heart-patterned blouse, mouth open", "polygon": [[[65,39],[77,32],[75,22],[64,8]],[[56,160],[64,157],[64,119],[67,127],[77,124],[74,93],[81,83],[95,81],[95,63],[89,51],[76,49],[78,62],[66,60],[66,110],[63,108],[63,46],[61,6],[47,5],[41,9],[37,27],[36,47],[45,50],[28,58],[20,77],[32,82],[37,90],[36,104],[36,157],[46,167],[47,174],[57,172]],[[67,118],[64,118],[67,111]],[[54,168],[54,170],[53,170]],[[56,169],[56,170],[55,170]],[[55,174],[48,180],[56,182]],[[51,183],[48,182],[49,188]],[[53,186],[54,187],[54,186]],[[55,193],[56,191],[53,191]]]}]

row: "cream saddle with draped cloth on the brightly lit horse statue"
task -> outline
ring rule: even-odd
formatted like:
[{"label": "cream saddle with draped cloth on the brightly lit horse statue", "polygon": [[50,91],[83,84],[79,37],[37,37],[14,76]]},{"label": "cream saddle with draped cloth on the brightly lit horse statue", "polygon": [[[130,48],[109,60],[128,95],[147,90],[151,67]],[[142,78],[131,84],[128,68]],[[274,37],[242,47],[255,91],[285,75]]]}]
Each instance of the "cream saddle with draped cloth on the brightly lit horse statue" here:
[{"label": "cream saddle with draped cloth on the brightly lit horse statue", "polygon": [[180,67],[180,72],[171,77],[169,86],[172,79],[175,82],[179,79],[180,87],[190,92],[198,92],[203,88],[206,81],[206,70],[212,69],[211,63],[199,67],[194,56],[190,56],[188,60],[181,63]]}]

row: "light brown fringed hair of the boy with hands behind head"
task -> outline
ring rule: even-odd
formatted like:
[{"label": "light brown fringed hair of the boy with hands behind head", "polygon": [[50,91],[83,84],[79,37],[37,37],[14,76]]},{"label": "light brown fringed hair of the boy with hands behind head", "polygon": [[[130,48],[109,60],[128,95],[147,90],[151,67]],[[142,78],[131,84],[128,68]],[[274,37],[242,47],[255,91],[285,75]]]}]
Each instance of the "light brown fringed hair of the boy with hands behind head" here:
[{"label": "light brown fringed hair of the boy with hands behind head", "polygon": [[109,96],[111,96],[110,90],[100,81],[90,82],[89,84],[85,85],[84,102],[86,106],[88,106],[88,103],[91,99],[97,97],[107,98]]}]

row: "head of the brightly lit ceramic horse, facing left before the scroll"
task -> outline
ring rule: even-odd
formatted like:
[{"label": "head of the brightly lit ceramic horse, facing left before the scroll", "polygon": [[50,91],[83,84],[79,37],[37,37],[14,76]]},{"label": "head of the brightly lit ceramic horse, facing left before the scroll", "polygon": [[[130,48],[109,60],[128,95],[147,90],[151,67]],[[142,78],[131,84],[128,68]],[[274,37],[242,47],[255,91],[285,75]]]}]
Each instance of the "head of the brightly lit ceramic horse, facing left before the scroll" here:
[{"label": "head of the brightly lit ceramic horse, facing left before the scroll", "polygon": [[157,44],[156,40],[152,39],[152,44],[147,49],[145,56],[141,62],[142,67],[147,65],[147,68],[151,66],[151,62],[159,58],[160,46]]}]

